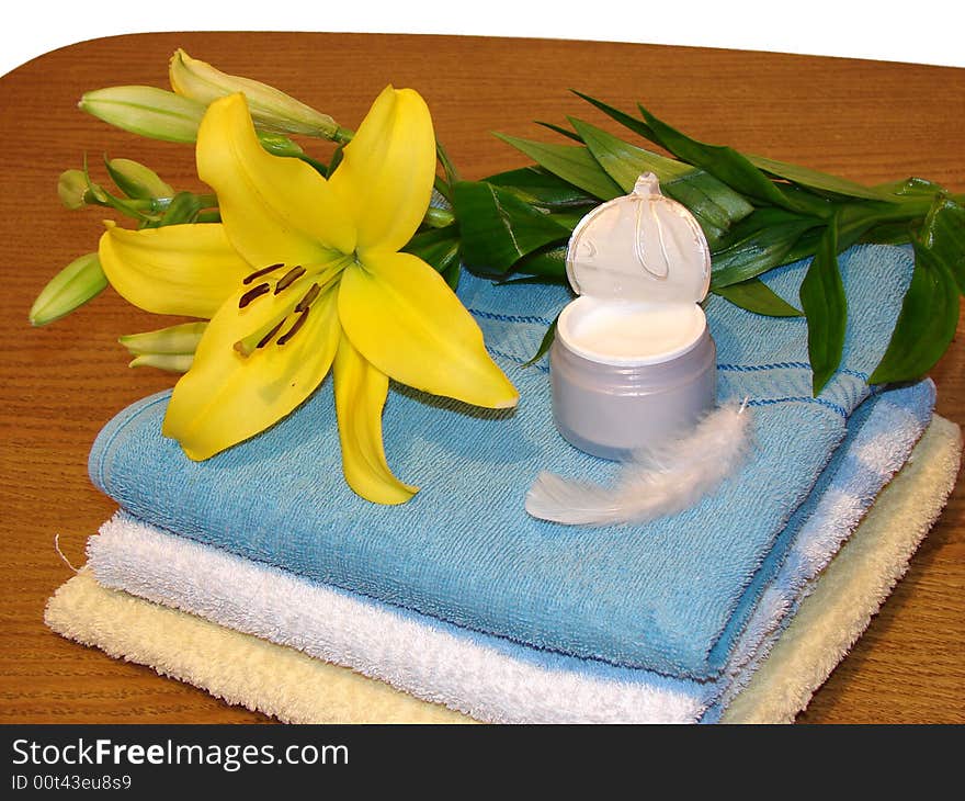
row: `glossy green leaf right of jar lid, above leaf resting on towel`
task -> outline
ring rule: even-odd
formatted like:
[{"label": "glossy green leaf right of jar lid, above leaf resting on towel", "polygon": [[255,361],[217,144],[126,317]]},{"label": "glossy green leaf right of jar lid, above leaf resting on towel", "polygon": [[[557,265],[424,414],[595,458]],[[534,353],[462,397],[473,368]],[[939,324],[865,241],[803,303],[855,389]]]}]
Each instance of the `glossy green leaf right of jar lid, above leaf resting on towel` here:
[{"label": "glossy green leaf right of jar lid, above leaf resting on towel", "polygon": [[[803,217],[783,208],[758,208],[735,225],[713,251],[711,289],[716,292],[796,261],[801,257],[794,251],[795,244],[819,225],[821,222],[815,217]],[[809,244],[808,252],[813,252],[815,244]]]}]

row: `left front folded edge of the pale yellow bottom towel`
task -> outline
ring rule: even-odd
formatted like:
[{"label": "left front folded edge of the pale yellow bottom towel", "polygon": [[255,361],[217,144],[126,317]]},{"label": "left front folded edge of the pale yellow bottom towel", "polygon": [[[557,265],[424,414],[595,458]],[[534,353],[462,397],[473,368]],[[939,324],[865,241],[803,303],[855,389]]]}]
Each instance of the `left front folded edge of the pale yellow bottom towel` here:
[{"label": "left front folded edge of the pale yellow bottom towel", "polygon": [[285,723],[470,723],[352,670],[104,589],[82,569],[47,601],[58,634]]}]

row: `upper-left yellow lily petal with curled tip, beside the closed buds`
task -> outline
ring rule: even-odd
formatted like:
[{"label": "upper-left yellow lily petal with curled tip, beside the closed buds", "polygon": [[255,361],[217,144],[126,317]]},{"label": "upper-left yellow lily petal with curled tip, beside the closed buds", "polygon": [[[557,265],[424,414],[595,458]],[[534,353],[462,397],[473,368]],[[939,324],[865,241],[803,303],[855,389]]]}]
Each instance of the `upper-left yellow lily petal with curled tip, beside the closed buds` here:
[{"label": "upper-left yellow lily petal with curled tip, beside the closed buds", "polygon": [[254,266],[326,261],[355,248],[340,198],[304,161],[265,153],[242,94],[216,100],[204,115],[197,174],[218,195],[231,244]]}]

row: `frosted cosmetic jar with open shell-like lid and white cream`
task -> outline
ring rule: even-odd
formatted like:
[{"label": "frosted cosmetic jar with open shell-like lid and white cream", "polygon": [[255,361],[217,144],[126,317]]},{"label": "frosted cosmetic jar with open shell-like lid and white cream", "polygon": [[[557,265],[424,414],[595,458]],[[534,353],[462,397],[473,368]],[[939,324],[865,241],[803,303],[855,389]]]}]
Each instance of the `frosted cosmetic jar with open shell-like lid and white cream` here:
[{"label": "frosted cosmetic jar with open shell-like lid and white cream", "polygon": [[574,230],[579,297],[549,352],[553,415],[577,448],[623,459],[692,427],[716,400],[716,348],[700,302],[711,255],[700,224],[651,173]]}]

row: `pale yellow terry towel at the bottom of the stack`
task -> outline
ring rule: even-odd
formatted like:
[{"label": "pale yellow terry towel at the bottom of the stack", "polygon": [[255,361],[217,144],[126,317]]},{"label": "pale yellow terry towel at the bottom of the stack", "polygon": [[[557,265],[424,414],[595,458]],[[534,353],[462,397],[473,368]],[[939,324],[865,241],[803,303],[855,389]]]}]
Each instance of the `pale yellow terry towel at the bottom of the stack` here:
[{"label": "pale yellow terry towel at the bottom of the stack", "polygon": [[[806,707],[861,635],[938,518],[954,486],[961,452],[958,427],[935,417],[908,463],[801,602],[723,722],[790,722]],[[49,600],[46,620],[65,636],[283,721],[469,720],[435,704],[400,704],[400,696],[378,682],[294,648],[104,589],[88,571]]]}]

